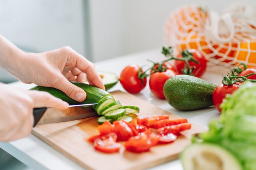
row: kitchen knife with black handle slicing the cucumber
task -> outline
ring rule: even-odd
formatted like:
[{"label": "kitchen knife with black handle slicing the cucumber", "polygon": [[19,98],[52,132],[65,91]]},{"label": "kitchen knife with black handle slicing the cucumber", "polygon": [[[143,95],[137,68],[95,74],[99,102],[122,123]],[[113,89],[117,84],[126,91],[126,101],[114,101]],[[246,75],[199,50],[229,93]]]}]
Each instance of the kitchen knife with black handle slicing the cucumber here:
[{"label": "kitchen knife with black handle slicing the cucumber", "polygon": [[[41,122],[41,124],[72,121],[72,120],[84,119],[84,118],[87,118],[87,117],[95,116],[97,114],[94,111],[94,109],[92,109],[92,106],[96,106],[96,105],[97,105],[97,103],[69,105],[68,109],[64,110],[64,112],[68,113],[68,112],[72,111],[72,110],[70,110],[70,108],[72,108],[72,107],[82,107],[81,111],[82,111],[83,114],[71,115],[71,116],[68,116],[68,115],[65,116],[64,115],[61,118],[60,117],[48,118],[48,119],[44,119]],[[33,109],[33,116],[34,116],[34,125],[33,125],[33,127],[35,127],[38,124],[38,122],[40,121],[40,119],[42,118],[42,116],[44,115],[44,113],[46,112],[46,110],[48,108],[49,109],[55,109],[55,108],[52,108],[52,107],[39,107],[39,108],[34,108]],[[55,109],[55,110],[58,111],[58,109]]]}]

